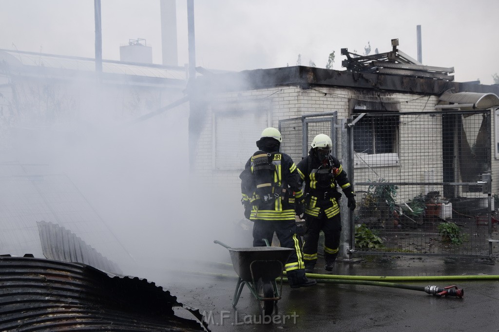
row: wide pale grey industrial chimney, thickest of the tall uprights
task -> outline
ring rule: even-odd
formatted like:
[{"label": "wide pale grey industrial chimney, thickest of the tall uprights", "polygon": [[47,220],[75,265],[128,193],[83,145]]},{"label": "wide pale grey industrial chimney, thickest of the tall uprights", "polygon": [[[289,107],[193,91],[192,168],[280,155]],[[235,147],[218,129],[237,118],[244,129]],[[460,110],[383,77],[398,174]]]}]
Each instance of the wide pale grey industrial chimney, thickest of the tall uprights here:
[{"label": "wide pale grey industrial chimney, thickest of the tall uprights", "polygon": [[163,64],[178,66],[177,7],[175,0],[161,0],[161,48]]}]

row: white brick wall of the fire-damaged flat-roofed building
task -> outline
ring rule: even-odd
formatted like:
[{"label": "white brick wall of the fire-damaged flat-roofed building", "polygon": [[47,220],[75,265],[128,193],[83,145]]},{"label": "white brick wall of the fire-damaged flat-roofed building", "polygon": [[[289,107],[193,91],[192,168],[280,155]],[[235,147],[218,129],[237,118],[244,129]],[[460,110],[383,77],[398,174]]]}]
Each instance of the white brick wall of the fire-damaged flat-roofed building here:
[{"label": "white brick wall of the fire-damaged flat-roofed building", "polygon": [[[269,125],[278,127],[278,121],[280,119],[300,117],[304,114],[312,114],[318,112],[338,112],[338,123],[340,119],[350,116],[349,110],[349,100],[362,95],[362,91],[350,89],[350,88],[335,88],[335,87],[321,87],[313,88],[308,90],[302,90],[299,87],[276,87],[269,89],[259,89],[254,91],[241,91],[237,93],[226,93],[219,94],[215,96],[214,102],[223,104],[228,102],[237,101],[251,101],[251,100],[262,100],[269,99],[271,103],[271,121]],[[364,94],[370,99],[372,99],[373,94],[371,92],[365,91]],[[434,111],[435,105],[438,103],[437,96],[424,96],[417,94],[405,94],[405,93],[383,93],[378,97],[382,100],[387,100],[390,102],[396,102],[400,106],[400,111],[402,112],[422,112],[422,111]],[[212,112],[210,110],[210,112]],[[233,171],[217,172],[211,165],[213,158],[213,143],[212,143],[212,113],[208,114],[206,117],[206,124],[203,126],[201,134],[201,139],[198,145],[197,152],[197,162],[194,166],[196,173],[201,175],[201,180],[205,183],[222,186],[228,190],[238,193],[240,191],[240,180],[239,174],[243,170],[244,164],[247,159],[241,160],[241,167]],[[404,119],[401,119],[403,121]],[[427,152],[431,151],[441,151],[442,147],[442,128],[441,128],[441,117],[435,116],[431,118],[431,122],[428,122],[425,126],[421,121],[429,121],[428,116],[421,118],[411,118],[410,123],[400,126],[400,137],[411,137],[412,140],[421,140],[427,142],[428,138],[432,138],[435,144],[428,144],[424,147]],[[415,129],[417,128],[417,130]],[[263,129],[263,128],[262,128]],[[340,137],[341,130],[338,130],[338,142],[341,141]],[[248,137],[248,139],[256,141],[259,137]],[[339,144],[340,145],[340,144]],[[341,157],[341,147],[339,147],[338,157]],[[299,147],[301,148],[301,147]],[[397,166],[396,172],[402,178],[402,175],[407,175],[413,172],[412,167],[414,167],[414,160],[418,160],[417,164],[419,169],[418,174],[424,174],[425,171],[433,171],[435,181],[443,181],[442,165],[435,164],[434,160],[431,159],[431,153],[427,153],[428,159],[425,157],[425,153],[422,153],[420,149],[414,149],[410,144],[401,143],[400,144],[400,165]],[[255,146],[256,150],[256,146]],[[248,156],[250,157],[250,156]],[[440,160],[442,161],[442,160]],[[208,165],[208,166],[207,166]],[[499,161],[493,159],[493,169],[499,167]],[[372,170],[361,168],[355,169],[356,179],[373,179],[377,180],[377,177],[393,177],[394,168],[376,168],[377,175],[374,176]],[[498,172],[493,172],[493,183],[499,183]],[[420,179],[412,179],[411,181],[424,182],[424,176]],[[498,186],[494,185],[497,190]],[[442,192],[442,188],[436,188]],[[407,189],[409,190],[409,189]],[[404,193],[399,192],[399,198],[403,201],[407,201],[414,196],[414,191],[424,193],[425,187],[420,186],[419,188],[411,188],[410,192]]]}]

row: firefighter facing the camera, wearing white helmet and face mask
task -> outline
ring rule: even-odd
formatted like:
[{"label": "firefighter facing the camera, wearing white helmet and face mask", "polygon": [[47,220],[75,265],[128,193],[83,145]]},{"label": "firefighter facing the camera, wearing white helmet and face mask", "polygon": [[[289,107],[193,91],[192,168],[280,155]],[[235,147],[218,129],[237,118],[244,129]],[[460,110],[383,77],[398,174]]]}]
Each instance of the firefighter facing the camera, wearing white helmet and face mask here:
[{"label": "firefighter facing the camera, wearing white helmet and face mask", "polygon": [[355,210],[355,194],[343,166],[331,155],[332,141],[325,134],[314,137],[308,156],[298,163],[298,173],[305,182],[304,200],[306,231],[303,239],[305,271],[312,273],[317,263],[319,233],[324,232],[324,260],[326,271],[332,271],[338,256],[341,217],[339,201],[341,188],[348,198],[348,208]]}]

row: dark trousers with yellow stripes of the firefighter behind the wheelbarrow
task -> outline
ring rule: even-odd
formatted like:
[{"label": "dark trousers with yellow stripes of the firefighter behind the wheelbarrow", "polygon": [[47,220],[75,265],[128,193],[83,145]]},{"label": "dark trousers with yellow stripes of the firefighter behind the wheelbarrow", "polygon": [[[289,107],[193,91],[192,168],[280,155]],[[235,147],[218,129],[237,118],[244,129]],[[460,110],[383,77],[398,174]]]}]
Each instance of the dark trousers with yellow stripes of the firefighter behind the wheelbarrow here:
[{"label": "dark trousers with yellow stripes of the firefighter behind the wheelbarrow", "polygon": [[296,235],[296,222],[289,220],[282,221],[269,221],[269,220],[255,220],[253,224],[253,247],[266,246],[266,239],[268,243],[272,243],[273,234],[277,235],[280,246],[283,248],[294,249],[289,256],[289,259],[284,266],[286,273],[294,274],[299,271],[300,275],[303,274],[305,268],[303,260],[301,259],[301,239]]}]

